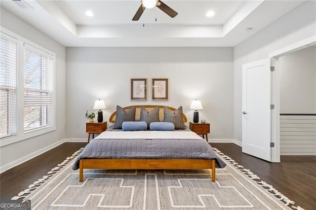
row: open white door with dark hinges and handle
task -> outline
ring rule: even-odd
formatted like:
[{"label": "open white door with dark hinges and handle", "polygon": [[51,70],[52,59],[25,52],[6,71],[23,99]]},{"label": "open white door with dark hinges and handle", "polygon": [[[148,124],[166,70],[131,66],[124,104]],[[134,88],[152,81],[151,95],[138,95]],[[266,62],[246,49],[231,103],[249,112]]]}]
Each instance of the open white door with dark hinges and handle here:
[{"label": "open white door with dark hinges and handle", "polygon": [[242,152],[271,161],[270,60],[242,65]]}]

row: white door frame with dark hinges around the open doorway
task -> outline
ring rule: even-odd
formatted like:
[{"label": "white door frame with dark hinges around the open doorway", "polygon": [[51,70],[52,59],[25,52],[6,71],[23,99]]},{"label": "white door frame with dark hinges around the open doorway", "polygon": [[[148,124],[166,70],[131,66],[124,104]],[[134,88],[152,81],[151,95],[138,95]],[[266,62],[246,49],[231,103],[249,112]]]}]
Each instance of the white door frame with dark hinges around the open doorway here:
[{"label": "white door frame with dark hinges around the open doorway", "polygon": [[[271,67],[275,67],[279,57],[310,47],[313,44],[316,44],[316,36],[311,36],[269,53]],[[275,70],[271,75],[271,85],[271,104],[275,105],[275,109],[271,112],[271,142],[275,143],[275,147],[271,149],[271,162],[278,163],[280,162],[280,76],[278,70]]]}]

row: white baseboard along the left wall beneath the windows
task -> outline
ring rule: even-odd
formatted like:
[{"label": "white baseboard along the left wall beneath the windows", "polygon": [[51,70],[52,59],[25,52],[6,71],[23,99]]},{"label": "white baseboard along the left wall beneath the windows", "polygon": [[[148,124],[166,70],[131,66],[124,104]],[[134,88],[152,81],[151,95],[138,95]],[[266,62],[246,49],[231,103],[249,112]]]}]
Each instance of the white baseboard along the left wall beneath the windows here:
[{"label": "white baseboard along the left wall beneath the windows", "polygon": [[32,158],[35,158],[36,156],[39,156],[40,154],[42,154],[44,152],[47,152],[48,150],[50,150],[50,149],[52,149],[52,148],[54,148],[56,146],[59,146],[60,144],[62,144],[64,142],[65,142],[65,139],[57,141],[56,143],[53,143],[53,144],[51,144],[49,146],[46,146],[46,147],[44,147],[44,148],[42,148],[42,149],[40,149],[40,150],[38,150],[36,152],[33,152],[32,154],[29,154],[29,155],[24,156],[24,157],[22,157],[22,158],[20,158],[18,160],[15,160],[15,161],[13,161],[13,162],[11,162],[9,164],[1,166],[0,167],[0,174],[5,172],[5,171],[7,171],[7,170],[9,170],[9,169],[12,169],[12,168],[20,165],[20,164],[22,164],[22,163],[24,163],[24,162],[26,162],[28,160],[31,160]]}]

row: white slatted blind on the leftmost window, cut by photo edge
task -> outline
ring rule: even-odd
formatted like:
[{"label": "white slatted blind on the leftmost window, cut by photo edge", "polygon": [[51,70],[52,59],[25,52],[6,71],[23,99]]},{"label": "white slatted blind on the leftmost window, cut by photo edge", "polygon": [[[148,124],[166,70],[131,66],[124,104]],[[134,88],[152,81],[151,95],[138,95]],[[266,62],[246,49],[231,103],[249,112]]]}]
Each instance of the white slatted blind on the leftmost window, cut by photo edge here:
[{"label": "white slatted blind on the leftmost window, cut by photo edge", "polygon": [[16,135],[17,42],[0,36],[0,139]]}]

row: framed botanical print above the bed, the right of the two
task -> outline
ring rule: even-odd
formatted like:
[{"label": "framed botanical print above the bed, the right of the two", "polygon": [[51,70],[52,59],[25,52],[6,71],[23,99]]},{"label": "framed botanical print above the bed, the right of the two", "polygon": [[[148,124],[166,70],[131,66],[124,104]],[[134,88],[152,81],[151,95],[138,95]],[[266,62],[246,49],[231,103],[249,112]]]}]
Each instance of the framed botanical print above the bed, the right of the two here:
[{"label": "framed botanical print above the bed, the right of the two", "polygon": [[153,101],[168,101],[168,79],[153,78],[152,79],[152,100]]}]

